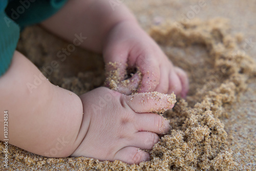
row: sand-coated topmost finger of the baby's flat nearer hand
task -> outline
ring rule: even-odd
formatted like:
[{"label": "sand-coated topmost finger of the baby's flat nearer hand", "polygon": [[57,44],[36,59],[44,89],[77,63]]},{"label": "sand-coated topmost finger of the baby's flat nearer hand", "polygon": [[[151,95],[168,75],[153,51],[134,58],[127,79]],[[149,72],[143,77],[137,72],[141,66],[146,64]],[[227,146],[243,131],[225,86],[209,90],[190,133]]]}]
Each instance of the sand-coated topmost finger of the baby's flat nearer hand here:
[{"label": "sand-coated topmost finger of the baby's flat nearer hand", "polygon": [[123,96],[121,100],[124,100],[137,113],[163,113],[173,108],[176,102],[176,96],[175,94],[151,92]]}]

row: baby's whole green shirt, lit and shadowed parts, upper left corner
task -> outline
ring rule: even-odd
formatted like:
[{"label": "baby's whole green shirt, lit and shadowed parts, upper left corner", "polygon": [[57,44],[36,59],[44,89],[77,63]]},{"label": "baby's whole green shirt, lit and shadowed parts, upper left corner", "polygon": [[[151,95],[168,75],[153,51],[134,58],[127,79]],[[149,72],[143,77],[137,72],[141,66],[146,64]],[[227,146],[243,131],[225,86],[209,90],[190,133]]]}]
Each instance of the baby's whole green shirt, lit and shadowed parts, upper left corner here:
[{"label": "baby's whole green shirt, lit and shadowed parts, upper left corner", "polygon": [[9,68],[20,29],[40,23],[67,0],[0,0],[0,76]]}]

